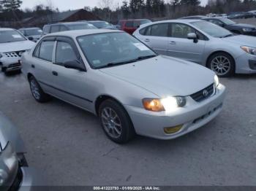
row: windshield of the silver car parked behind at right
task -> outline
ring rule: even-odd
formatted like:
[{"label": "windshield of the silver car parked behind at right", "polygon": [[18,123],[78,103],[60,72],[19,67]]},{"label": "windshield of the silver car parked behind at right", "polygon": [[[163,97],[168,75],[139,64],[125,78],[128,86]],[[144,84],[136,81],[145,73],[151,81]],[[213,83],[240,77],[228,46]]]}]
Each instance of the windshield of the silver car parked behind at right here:
[{"label": "windshield of the silver car parked behind at right", "polygon": [[225,28],[222,28],[220,26],[214,25],[213,23],[205,21],[196,21],[191,24],[213,37],[222,38],[227,36],[233,36],[233,34],[230,31],[227,31]]}]

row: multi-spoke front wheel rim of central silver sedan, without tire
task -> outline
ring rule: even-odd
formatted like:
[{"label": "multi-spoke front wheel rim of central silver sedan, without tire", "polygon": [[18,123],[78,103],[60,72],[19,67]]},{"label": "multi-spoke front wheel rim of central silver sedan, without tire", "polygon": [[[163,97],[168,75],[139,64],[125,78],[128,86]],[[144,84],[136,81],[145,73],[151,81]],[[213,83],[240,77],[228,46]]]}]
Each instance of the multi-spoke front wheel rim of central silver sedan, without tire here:
[{"label": "multi-spoke front wheel rim of central silver sedan, without tire", "polygon": [[102,109],[101,119],[102,125],[109,136],[113,138],[121,136],[121,120],[113,109],[110,107]]}]

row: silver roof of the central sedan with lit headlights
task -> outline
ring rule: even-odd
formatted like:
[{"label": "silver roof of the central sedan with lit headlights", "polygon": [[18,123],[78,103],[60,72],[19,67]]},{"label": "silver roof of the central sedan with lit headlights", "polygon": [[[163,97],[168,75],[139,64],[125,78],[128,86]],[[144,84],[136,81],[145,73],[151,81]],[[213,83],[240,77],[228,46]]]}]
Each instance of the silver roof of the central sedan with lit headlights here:
[{"label": "silver roof of the central sedan with lit headlights", "polygon": [[113,33],[113,32],[124,33],[124,31],[109,30],[109,29],[86,29],[86,30],[75,30],[75,31],[62,31],[58,33],[47,34],[45,35],[45,37],[46,36],[68,36],[75,39],[78,36],[85,36],[90,34]]}]

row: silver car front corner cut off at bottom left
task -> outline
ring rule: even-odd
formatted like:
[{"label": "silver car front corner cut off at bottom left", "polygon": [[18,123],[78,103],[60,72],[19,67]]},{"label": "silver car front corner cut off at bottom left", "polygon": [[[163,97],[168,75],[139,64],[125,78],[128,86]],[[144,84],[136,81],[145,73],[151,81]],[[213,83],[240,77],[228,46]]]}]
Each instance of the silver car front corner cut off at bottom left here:
[{"label": "silver car front corner cut off at bottom left", "polygon": [[33,190],[33,186],[40,185],[25,152],[17,128],[0,112],[0,190]]}]

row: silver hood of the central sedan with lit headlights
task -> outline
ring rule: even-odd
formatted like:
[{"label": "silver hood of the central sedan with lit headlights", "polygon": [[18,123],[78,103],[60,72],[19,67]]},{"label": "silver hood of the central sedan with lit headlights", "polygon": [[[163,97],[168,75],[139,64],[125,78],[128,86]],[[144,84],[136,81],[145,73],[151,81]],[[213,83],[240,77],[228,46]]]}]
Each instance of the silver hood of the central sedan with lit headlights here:
[{"label": "silver hood of the central sedan with lit headlights", "polygon": [[196,63],[157,56],[136,63],[101,69],[158,95],[187,96],[214,83],[214,72]]}]

